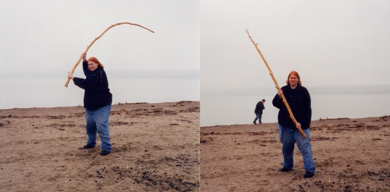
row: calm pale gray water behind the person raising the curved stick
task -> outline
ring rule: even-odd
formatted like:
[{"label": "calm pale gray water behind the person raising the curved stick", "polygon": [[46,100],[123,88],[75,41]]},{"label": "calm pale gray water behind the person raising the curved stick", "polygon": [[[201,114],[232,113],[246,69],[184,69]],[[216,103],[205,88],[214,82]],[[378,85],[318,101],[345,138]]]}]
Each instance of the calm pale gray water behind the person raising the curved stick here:
[{"label": "calm pale gray water behind the person raising the curved stick", "polygon": [[[66,78],[2,80],[0,109],[83,105],[84,90]],[[200,100],[199,80],[109,80],[112,103]]]}]

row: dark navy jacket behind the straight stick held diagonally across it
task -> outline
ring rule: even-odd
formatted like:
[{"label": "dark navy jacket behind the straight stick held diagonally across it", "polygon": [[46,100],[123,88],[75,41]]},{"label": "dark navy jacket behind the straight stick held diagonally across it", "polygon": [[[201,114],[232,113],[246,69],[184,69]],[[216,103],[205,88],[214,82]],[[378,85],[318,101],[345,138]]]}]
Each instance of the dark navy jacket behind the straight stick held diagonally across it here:
[{"label": "dark navy jacket behind the straight stick held diagonally across it", "polygon": [[[301,124],[302,129],[310,128],[311,122],[311,99],[306,88],[298,85],[295,89],[291,89],[290,85],[281,88],[286,101],[289,104],[291,111],[294,114],[295,120]],[[295,124],[290,118],[283,100],[276,94],[272,100],[272,104],[279,108],[278,123],[283,127],[295,129]]]}]

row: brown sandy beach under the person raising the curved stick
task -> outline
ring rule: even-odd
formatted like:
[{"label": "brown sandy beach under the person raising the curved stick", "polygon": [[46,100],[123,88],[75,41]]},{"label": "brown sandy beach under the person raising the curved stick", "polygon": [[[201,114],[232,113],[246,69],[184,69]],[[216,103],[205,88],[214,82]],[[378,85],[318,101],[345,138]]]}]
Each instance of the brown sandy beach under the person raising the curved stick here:
[{"label": "brown sandy beach under the person raising the curved stick", "polygon": [[0,110],[0,191],[199,191],[200,102],[112,105],[112,152],[82,107]]}]

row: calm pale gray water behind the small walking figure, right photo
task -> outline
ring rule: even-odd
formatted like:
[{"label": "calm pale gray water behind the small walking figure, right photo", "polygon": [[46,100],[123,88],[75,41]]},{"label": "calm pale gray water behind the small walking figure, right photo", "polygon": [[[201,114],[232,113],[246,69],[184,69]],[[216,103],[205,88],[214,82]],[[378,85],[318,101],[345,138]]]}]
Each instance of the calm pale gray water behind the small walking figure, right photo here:
[{"label": "calm pale gray water behind the small walking figure, right photo", "polygon": [[[310,95],[312,120],[320,118],[366,118],[390,114],[390,94]],[[202,96],[201,126],[252,124],[256,103],[265,99],[263,123],[278,122],[278,109],[272,106],[274,95]]]}]

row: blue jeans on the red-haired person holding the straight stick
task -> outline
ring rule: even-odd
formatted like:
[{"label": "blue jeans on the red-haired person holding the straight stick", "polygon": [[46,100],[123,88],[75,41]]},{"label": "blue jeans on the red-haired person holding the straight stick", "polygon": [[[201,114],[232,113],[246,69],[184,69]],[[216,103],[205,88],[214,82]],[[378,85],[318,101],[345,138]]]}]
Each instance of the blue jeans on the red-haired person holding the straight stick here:
[{"label": "blue jeans on the red-haired person holding the straight stick", "polygon": [[309,142],[310,131],[309,129],[304,129],[303,132],[307,138],[303,138],[299,133],[298,129],[289,129],[288,127],[283,127],[279,125],[279,138],[283,143],[282,153],[283,153],[283,167],[292,169],[294,167],[294,146],[295,142],[297,143],[298,149],[303,157],[303,167],[306,171],[315,173],[316,167],[313,162],[313,155],[311,154],[311,145]]}]

